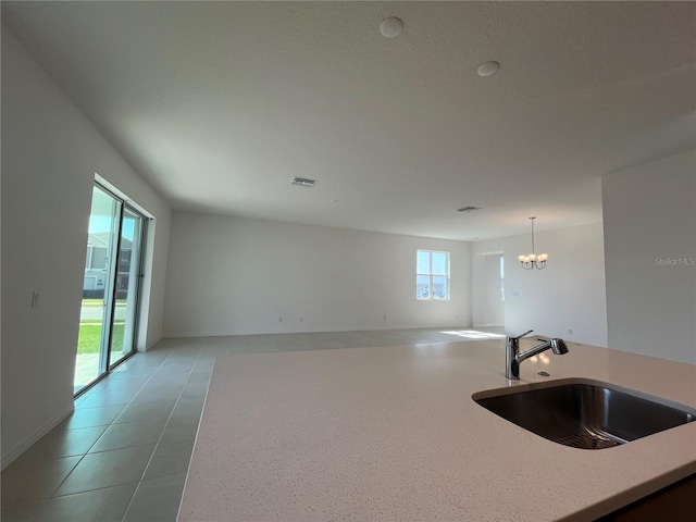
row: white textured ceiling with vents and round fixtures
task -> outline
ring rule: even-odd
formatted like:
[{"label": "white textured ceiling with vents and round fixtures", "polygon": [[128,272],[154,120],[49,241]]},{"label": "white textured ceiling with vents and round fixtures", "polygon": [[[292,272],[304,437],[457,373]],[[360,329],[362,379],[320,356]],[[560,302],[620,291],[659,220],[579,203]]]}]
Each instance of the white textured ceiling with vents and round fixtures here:
[{"label": "white textured ceiling with vents and round fixtures", "polygon": [[484,239],[597,223],[600,176],[696,146],[692,2],[3,1],[2,22],[175,209]]}]

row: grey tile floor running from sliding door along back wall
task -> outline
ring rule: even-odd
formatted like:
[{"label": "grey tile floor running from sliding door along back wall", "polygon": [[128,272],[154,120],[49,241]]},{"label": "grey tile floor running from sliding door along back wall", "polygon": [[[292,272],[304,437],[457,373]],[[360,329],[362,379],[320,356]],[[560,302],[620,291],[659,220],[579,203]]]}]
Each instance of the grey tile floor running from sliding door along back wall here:
[{"label": "grey tile floor running from sliding door along back wall", "polygon": [[[2,471],[2,522],[174,522],[215,357],[472,340],[499,328],[163,339]],[[500,336],[501,337],[501,336]]]}]

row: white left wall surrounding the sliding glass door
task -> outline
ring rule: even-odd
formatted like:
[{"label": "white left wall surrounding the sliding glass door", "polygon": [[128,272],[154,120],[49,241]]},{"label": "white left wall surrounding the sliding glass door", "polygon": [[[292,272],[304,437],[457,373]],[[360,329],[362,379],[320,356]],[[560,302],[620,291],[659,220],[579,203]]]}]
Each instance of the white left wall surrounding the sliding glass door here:
[{"label": "white left wall surrounding the sliding glass door", "polygon": [[73,409],[95,173],[154,216],[142,348],[161,337],[171,211],[3,27],[3,467]]}]

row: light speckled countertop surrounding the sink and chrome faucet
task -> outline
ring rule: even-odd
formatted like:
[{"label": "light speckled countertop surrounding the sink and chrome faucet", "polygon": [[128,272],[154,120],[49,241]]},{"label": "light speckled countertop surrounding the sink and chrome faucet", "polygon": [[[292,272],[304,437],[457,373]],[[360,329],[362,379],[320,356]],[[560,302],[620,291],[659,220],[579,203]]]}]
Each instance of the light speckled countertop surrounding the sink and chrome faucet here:
[{"label": "light speckled countertop surrounding the sink and chrome faucet", "polygon": [[587,377],[696,407],[696,365],[569,344],[513,383],[504,344],[219,358],[179,521],[586,521],[696,473],[696,422],[592,451],[471,399]]}]

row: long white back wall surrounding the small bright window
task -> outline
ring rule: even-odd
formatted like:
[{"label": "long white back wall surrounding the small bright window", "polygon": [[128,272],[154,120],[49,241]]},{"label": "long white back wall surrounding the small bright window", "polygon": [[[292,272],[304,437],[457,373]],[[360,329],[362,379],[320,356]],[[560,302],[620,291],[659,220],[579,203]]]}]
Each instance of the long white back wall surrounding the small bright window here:
[{"label": "long white back wall surrounding the small bright window", "polygon": [[[450,252],[450,301],[417,301],[419,248]],[[467,243],[173,214],[165,335],[470,324]]]}]

